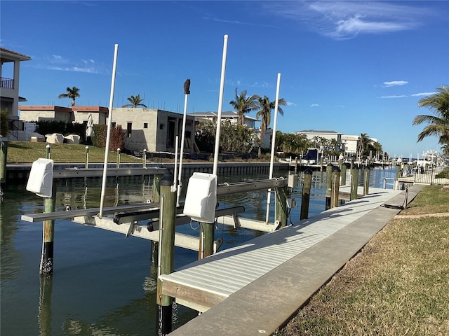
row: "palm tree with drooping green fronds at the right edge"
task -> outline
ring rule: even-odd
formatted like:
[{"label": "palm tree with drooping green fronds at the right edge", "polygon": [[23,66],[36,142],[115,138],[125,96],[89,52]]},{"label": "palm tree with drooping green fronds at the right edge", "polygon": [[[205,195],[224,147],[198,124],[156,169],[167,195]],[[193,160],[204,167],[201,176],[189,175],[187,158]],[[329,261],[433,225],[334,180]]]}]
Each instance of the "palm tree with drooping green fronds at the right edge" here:
[{"label": "palm tree with drooping green fronds at the right edge", "polygon": [[413,119],[413,125],[429,123],[418,134],[417,142],[436,135],[439,137],[438,144],[449,144],[449,86],[439,86],[434,94],[420,99],[418,106],[427,107],[434,112],[434,116],[420,115]]}]

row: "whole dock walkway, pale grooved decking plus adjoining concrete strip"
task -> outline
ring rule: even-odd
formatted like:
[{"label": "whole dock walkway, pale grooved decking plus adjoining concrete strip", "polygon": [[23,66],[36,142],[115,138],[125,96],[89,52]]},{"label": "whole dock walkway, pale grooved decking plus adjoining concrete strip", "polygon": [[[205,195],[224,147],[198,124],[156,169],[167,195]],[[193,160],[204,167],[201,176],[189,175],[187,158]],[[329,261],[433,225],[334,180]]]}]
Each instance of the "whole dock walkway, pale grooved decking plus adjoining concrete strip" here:
[{"label": "whole dock walkway, pale grooved decking plus adjoining concrete strip", "polygon": [[[408,202],[424,186],[408,188]],[[252,239],[172,274],[163,294],[203,314],[170,335],[270,335],[400,209],[406,191],[370,194]]]}]

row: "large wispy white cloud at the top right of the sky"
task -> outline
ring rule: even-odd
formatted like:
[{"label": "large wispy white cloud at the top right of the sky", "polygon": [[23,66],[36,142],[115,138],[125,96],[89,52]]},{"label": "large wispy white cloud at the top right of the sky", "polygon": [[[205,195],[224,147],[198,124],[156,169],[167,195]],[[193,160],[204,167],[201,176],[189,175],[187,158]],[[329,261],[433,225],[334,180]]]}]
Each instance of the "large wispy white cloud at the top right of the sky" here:
[{"label": "large wispy white cloud at the top right of the sky", "polygon": [[429,10],[385,1],[267,1],[272,14],[335,39],[415,29]]}]

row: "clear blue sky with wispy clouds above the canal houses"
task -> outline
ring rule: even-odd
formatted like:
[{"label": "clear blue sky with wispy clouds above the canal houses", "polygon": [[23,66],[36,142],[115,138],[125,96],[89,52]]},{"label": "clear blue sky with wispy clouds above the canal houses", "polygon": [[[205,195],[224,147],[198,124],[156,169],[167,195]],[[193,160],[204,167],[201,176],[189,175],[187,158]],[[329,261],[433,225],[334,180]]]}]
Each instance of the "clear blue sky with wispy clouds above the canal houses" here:
[{"label": "clear blue sky with wispy clouds above the canal houses", "polygon": [[[448,1],[8,1],[3,48],[32,57],[20,67],[27,105],[114,106],[130,95],[152,108],[217,111],[224,36],[229,36],[223,111],[235,89],[286,99],[277,130],[366,133],[391,156],[439,150],[417,143],[424,95],[449,85]],[[7,69],[2,74],[8,77]],[[255,117],[255,113],[250,116]],[[272,118],[274,120],[274,118]],[[271,125],[273,126],[273,125]]]}]

